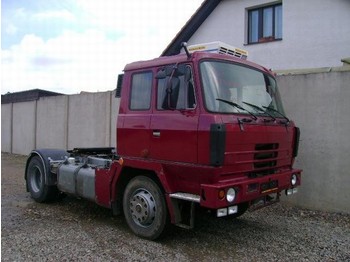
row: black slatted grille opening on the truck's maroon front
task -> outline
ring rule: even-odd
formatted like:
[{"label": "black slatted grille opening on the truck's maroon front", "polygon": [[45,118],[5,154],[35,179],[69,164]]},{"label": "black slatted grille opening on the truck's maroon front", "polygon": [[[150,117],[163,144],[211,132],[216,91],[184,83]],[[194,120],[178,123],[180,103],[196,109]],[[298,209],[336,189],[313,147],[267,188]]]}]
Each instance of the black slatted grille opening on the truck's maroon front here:
[{"label": "black slatted grille opening on the truck's maroon front", "polygon": [[278,144],[256,144],[254,153],[254,169],[268,169],[277,165]]}]

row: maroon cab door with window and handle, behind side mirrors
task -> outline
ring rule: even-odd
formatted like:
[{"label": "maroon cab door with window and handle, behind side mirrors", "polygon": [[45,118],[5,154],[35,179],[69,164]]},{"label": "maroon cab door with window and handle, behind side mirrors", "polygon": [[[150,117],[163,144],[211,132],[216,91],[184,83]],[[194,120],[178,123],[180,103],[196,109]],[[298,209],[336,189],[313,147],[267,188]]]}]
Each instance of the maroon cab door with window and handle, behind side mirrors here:
[{"label": "maroon cab door with window and handle, behind side mirrors", "polygon": [[[171,67],[171,66],[170,66]],[[150,157],[158,160],[197,163],[198,108],[192,68],[176,65],[156,79],[156,105],[151,118]]]}]

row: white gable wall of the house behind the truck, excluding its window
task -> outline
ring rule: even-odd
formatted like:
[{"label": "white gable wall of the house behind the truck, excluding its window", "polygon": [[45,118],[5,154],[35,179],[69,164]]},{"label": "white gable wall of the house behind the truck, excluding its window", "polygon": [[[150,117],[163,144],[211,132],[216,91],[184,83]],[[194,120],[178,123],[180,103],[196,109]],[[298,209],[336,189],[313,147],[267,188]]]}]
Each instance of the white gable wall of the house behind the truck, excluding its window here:
[{"label": "white gable wall of the house behind the truck, excluding its window", "polygon": [[[282,2],[283,39],[247,45],[247,8]],[[222,41],[273,70],[340,66],[350,56],[348,0],[223,0],[188,44]]]}]

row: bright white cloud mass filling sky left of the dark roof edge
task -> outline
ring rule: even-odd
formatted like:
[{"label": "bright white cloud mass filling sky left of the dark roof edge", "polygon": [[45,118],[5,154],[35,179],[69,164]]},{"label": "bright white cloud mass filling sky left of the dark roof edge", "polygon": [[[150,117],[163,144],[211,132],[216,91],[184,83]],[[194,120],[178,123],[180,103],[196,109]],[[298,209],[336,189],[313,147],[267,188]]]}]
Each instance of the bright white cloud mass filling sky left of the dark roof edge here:
[{"label": "bright white cloud mass filling sky left of the dark roof edge", "polygon": [[[196,0],[78,0],[89,27],[44,40],[25,35],[2,50],[1,92],[45,89],[66,94],[113,90],[125,64],[157,57],[199,7]],[[192,2],[192,1],[191,1]],[[185,12],[186,11],[186,12]],[[18,14],[23,13],[19,9]],[[74,19],[65,11],[42,12],[37,19]],[[109,33],[117,37],[109,39]]]}]

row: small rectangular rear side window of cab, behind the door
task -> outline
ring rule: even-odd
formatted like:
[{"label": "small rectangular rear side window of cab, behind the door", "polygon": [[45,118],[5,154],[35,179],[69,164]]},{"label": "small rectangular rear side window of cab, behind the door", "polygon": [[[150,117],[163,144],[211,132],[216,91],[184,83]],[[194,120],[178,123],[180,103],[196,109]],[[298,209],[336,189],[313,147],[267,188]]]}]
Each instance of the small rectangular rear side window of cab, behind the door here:
[{"label": "small rectangular rear side window of cab, behind the door", "polygon": [[147,110],[151,106],[152,72],[142,72],[132,75],[131,79],[131,110]]}]

